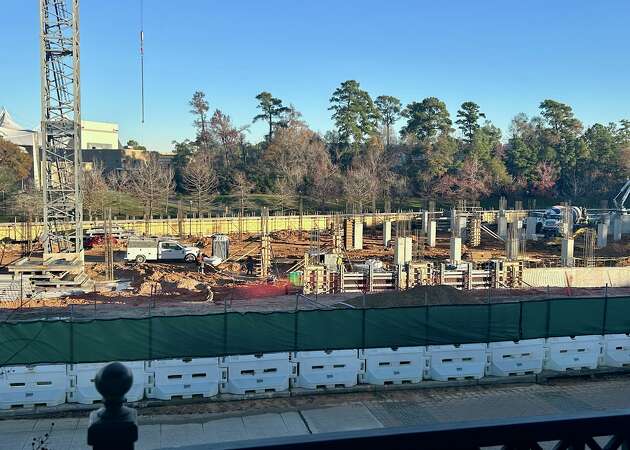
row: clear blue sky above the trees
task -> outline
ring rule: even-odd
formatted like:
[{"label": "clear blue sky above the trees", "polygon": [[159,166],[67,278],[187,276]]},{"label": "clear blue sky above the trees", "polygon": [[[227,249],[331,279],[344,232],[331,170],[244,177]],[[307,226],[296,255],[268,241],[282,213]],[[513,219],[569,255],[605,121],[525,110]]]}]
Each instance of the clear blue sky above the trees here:
[{"label": "clear blue sky above the trees", "polygon": [[[140,0],[82,0],[82,111],[155,150],[194,136],[187,103],[198,89],[238,125],[270,91],[322,132],[347,79],[373,97],[439,97],[453,116],[473,100],[504,131],[545,98],[587,125],[630,118],[627,0],[144,2],[146,123]],[[30,127],[40,117],[38,33],[37,0],[2,0],[0,105]],[[249,140],[264,133],[255,124]]]}]

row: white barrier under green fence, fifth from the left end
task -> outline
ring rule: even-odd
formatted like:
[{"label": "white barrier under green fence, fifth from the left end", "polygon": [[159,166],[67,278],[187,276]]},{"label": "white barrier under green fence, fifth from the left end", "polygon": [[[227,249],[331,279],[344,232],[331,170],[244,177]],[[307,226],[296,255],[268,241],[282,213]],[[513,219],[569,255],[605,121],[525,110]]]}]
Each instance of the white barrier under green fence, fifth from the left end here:
[{"label": "white barrier under green fence, fifth from the left end", "polygon": [[293,386],[299,388],[352,387],[365,373],[365,361],[359,359],[358,350],[294,352],[291,360],[298,364]]}]

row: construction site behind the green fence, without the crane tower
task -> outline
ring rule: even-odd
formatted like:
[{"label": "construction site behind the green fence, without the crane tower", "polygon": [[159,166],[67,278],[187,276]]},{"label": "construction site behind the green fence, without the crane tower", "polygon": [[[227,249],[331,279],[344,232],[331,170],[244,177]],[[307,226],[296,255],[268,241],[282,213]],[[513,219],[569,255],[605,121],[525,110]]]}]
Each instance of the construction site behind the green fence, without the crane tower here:
[{"label": "construction site behind the green fence, without the crane tower", "polygon": [[[286,310],[295,307],[296,294],[307,304],[323,295],[334,303],[337,297],[446,286],[466,292],[451,290],[452,303],[459,303],[630,287],[625,209],[588,212],[576,225],[578,208],[558,207],[569,214],[549,219],[544,210],[508,209],[501,202],[497,210],[463,202],[459,209],[436,210],[428,202],[417,212],[262,211],[257,217],[93,222],[82,224],[90,248],[63,258],[44,256],[42,224],[3,224],[8,273],[2,306],[19,314],[70,305],[77,311],[90,305],[92,312],[103,305],[113,314],[130,314],[128,306],[135,305],[142,314],[149,303],[175,311]],[[129,243],[143,240],[180,245],[192,256],[131,255]]]}]

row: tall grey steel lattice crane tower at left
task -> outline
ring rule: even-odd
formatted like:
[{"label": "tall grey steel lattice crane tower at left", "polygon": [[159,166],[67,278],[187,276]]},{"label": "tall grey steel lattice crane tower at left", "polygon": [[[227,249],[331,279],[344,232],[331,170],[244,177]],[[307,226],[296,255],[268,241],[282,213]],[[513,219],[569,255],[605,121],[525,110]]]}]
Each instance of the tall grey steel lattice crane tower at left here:
[{"label": "tall grey steel lattice crane tower at left", "polygon": [[40,0],[44,253],[82,253],[79,0]]}]

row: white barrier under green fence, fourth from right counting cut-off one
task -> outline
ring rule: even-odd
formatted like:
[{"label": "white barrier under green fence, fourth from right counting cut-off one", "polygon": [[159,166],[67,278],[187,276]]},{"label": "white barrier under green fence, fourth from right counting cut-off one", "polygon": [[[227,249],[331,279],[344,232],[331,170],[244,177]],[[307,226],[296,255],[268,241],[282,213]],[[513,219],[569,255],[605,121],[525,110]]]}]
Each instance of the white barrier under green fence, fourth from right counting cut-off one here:
[{"label": "white barrier under green fence, fourth from right counting cut-off one", "polygon": [[486,344],[429,345],[425,378],[437,381],[478,380],[486,369]]}]

